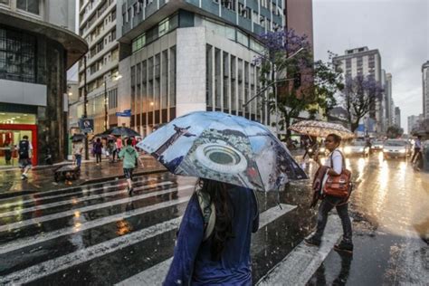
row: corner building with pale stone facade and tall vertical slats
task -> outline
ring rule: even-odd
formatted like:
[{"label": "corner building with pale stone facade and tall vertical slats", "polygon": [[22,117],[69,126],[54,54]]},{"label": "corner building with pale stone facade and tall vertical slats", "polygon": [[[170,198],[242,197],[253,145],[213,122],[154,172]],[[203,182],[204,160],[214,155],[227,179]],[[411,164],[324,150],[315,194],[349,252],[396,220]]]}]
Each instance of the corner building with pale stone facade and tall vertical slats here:
[{"label": "corner building with pale stone facade and tall vertical slats", "polygon": [[243,104],[261,88],[256,35],[283,27],[284,8],[282,0],[119,2],[119,94],[129,94],[119,109],[132,110],[130,126],[146,135],[193,110],[268,125],[260,97]]}]

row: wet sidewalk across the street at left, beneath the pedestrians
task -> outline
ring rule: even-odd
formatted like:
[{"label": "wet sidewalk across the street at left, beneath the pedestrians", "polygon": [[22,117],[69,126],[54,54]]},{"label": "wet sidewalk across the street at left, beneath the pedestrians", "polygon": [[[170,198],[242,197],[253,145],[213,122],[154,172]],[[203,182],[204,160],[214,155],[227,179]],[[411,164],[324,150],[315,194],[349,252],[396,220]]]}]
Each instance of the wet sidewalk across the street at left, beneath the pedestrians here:
[{"label": "wet sidewalk across the street at left, beneath the pedestrians", "polygon": [[[135,169],[135,176],[167,171],[155,158],[149,155],[142,156],[141,159],[145,167]],[[95,161],[91,159],[82,161],[81,177],[72,181],[71,186],[65,185],[64,181],[55,183],[53,171],[66,164],[67,162],[63,162],[55,166],[35,167],[29,172],[27,180],[21,179],[21,170],[17,167],[0,170],[0,198],[28,195],[35,192],[81,186],[124,177],[121,161],[109,163],[107,159],[103,159],[100,166],[97,166]],[[68,164],[71,164],[71,162]]]}]

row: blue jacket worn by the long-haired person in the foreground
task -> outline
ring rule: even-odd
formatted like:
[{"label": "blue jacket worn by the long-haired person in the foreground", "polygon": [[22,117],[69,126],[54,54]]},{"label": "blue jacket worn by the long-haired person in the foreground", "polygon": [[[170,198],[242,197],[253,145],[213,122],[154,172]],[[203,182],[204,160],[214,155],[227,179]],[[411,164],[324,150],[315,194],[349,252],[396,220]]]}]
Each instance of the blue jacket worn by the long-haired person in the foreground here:
[{"label": "blue jacket worn by the long-haired person in the foreground", "polygon": [[259,227],[259,213],[251,189],[234,186],[233,234],[220,261],[211,260],[211,240],[203,242],[204,221],[198,198],[192,195],[177,237],[175,256],[164,285],[251,285],[250,245]]}]

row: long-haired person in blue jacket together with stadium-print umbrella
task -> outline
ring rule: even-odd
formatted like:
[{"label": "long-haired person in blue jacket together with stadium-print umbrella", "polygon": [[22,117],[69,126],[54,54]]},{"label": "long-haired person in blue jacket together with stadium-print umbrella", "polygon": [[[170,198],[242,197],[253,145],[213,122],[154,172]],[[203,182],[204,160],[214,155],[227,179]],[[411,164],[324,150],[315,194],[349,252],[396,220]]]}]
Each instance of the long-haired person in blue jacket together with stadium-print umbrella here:
[{"label": "long-haired person in blue jacket together with stadium-print umbrella", "polygon": [[138,143],[176,175],[198,183],[177,234],[165,285],[252,284],[250,245],[259,226],[254,190],[307,175],[262,124],[195,111]]}]

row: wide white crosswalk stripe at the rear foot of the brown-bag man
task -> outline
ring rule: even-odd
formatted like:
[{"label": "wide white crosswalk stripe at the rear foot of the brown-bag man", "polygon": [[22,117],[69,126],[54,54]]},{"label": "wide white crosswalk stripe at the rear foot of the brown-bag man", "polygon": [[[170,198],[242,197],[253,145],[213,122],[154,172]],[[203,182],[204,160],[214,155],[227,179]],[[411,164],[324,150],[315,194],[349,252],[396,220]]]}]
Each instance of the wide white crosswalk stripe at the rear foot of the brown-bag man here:
[{"label": "wide white crosswalk stripe at the rear foot of the brown-bag man", "polygon": [[329,215],[328,224],[320,247],[304,242],[293,249],[281,262],[256,283],[256,285],[305,285],[326,259],[341,236],[342,228],[338,215]]}]

